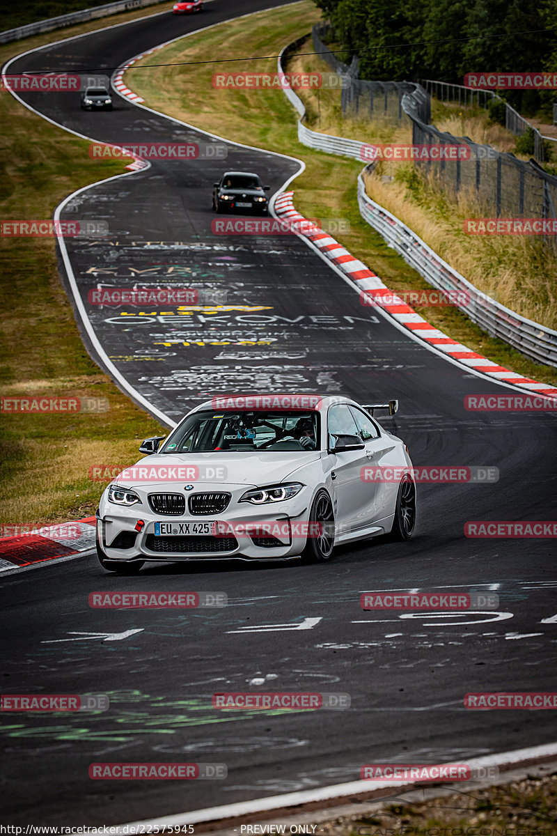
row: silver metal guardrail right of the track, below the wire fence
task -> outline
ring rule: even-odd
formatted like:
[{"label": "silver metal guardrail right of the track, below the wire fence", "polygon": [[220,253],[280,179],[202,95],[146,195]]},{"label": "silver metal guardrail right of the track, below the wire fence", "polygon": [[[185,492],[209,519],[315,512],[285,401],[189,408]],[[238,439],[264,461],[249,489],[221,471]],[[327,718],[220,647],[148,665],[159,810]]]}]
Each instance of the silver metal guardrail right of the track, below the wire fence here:
[{"label": "silver metal guardrail right of the track, below the wire fence", "polygon": [[[284,48],[278,59],[278,72],[284,73],[283,57],[297,46],[289,44]],[[329,154],[349,156],[361,159],[361,148],[366,143],[357,140],[347,140],[340,136],[319,134],[302,124],[306,115],[306,108],[300,97],[294,91],[282,86],[286,98],[291,101],[300,114],[298,120],[298,139],[302,145],[326,151]],[[366,166],[369,168],[369,166]],[[365,170],[364,170],[365,171]],[[387,244],[401,255],[404,260],[434,288],[446,291],[461,291],[467,303],[458,308],[467,314],[480,328],[494,337],[518,349],[522,354],[534,359],[537,363],[557,366],[557,331],[544,325],[525,319],[504,305],[496,302],[481,290],[475,288],[463,276],[443,261],[437,252],[428,247],[422,238],[418,237],[409,227],[397,217],[387,212],[378,203],[372,201],[366,194],[363,181],[363,171],[357,180],[357,199],[360,214],[370,227],[377,230],[387,241]],[[455,298],[458,298],[456,296]]]}]

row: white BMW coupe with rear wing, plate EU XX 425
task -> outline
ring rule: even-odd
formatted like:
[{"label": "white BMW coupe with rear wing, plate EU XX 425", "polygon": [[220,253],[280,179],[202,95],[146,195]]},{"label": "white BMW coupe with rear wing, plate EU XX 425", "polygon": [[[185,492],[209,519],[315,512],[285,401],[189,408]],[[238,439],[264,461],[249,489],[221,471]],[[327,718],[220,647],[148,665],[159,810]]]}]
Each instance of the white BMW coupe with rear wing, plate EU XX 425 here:
[{"label": "white BMW coupe with rear wing, plate EU XX 425", "polygon": [[218,396],[103,493],[101,565],[130,574],[145,562],[304,558],[391,533],[408,540],[416,486],[408,449],[374,413],[338,395]]}]

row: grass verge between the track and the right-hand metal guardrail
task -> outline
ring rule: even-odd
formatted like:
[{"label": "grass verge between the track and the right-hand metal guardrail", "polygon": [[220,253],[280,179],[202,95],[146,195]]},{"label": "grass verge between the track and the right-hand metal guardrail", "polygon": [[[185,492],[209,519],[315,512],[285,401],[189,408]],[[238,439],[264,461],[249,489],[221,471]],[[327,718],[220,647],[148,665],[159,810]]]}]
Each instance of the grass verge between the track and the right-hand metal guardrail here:
[{"label": "grass verge between the track and the right-hand metal guardrail", "polygon": [[[134,64],[134,69],[126,74],[127,83],[154,110],[230,140],[302,157],[306,170],[292,184],[296,208],[306,217],[347,219],[350,232],[339,234],[338,239],[392,290],[430,288],[360,216],[356,180],[362,164],[301,145],[297,140],[295,111],[280,90],[215,89],[211,84],[215,68],[210,64],[153,66],[163,62],[204,61],[207,55],[222,54],[223,44],[230,59],[276,55],[287,43],[309,32],[317,17],[313,4],[303,0],[294,7],[254,14],[249,26],[246,19],[220,24],[170,44],[156,58],[148,57]],[[236,69],[273,72],[276,59],[245,60]],[[557,370],[535,364],[502,340],[489,337],[456,308],[417,309],[453,339],[498,364],[536,380],[557,384]]]}]

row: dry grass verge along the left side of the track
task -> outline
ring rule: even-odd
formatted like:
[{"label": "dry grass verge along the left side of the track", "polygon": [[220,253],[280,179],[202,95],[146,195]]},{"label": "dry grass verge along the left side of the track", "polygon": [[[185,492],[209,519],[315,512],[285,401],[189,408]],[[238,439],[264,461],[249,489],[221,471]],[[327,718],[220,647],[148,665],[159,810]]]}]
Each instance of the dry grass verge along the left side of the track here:
[{"label": "dry grass verge along the left side of the track", "polygon": [[[141,16],[144,11],[117,15],[110,23]],[[64,29],[61,37],[95,28],[98,20]],[[52,40],[48,33],[3,46],[0,61]],[[0,121],[5,219],[50,218],[70,192],[125,171],[120,161],[92,163],[87,141],[50,125],[7,92],[0,94]],[[129,465],[139,458],[141,439],[165,430],[89,358],[60,283],[53,239],[3,237],[0,252],[2,395],[109,400],[109,411],[97,414],[0,414],[0,522],[37,526],[87,517],[104,489],[89,479],[89,467]]]}]

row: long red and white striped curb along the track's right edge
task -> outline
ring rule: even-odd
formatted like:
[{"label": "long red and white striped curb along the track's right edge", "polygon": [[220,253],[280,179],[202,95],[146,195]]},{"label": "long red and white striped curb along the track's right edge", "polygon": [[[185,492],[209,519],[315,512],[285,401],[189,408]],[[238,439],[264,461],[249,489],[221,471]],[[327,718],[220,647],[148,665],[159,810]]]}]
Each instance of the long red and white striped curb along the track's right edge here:
[{"label": "long red and white striped curb along the track's right edge", "polygon": [[[288,218],[289,221],[306,221],[306,218],[294,208],[293,194],[293,191],[285,191],[276,197],[275,212],[279,217]],[[310,223],[306,221],[306,225],[310,225]],[[306,230],[302,224],[300,234],[308,238],[319,252],[322,252],[329,261],[339,268],[352,281],[354,288],[359,293],[366,293],[367,296],[372,297],[374,306],[382,308],[392,316],[392,319],[412,331],[419,339],[423,339],[433,349],[447,354],[468,369],[477,370],[483,375],[488,375],[502,383],[519,386],[519,388],[529,392],[535,391],[539,395],[549,397],[557,395],[557,388],[506,369],[482,354],[477,354],[473,349],[468,349],[466,345],[458,343],[455,339],[451,339],[447,334],[444,334],[443,331],[429,324],[427,319],[423,319],[402,298],[389,290],[387,285],[372,270],[367,268],[366,264],[353,257],[347,249],[342,247],[342,244],[339,244],[327,232],[323,232],[322,229],[315,226]]]}]

